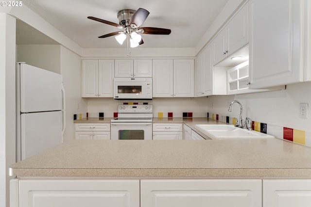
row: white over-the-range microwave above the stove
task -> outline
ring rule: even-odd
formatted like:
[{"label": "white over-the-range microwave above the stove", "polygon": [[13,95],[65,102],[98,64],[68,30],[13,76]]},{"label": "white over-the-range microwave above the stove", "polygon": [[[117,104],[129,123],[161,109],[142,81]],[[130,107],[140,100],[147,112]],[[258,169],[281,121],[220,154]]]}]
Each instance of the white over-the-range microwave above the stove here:
[{"label": "white over-the-range microwave above the stove", "polygon": [[152,78],[115,78],[114,99],[152,99]]}]

